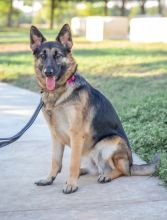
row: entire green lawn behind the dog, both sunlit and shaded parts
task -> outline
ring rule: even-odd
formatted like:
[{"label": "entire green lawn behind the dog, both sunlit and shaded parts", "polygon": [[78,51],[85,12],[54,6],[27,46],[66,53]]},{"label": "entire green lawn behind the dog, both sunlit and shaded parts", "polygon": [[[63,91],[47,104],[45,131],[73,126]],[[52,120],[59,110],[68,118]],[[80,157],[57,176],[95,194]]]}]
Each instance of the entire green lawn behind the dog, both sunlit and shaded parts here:
[{"label": "entire green lawn behind the dog, both sunlit and shaded parts", "polygon": [[[0,33],[0,80],[37,91],[28,31],[8,36]],[[133,150],[147,161],[161,154],[157,174],[167,184],[167,45],[74,38],[73,52],[79,71],[112,101]]]}]

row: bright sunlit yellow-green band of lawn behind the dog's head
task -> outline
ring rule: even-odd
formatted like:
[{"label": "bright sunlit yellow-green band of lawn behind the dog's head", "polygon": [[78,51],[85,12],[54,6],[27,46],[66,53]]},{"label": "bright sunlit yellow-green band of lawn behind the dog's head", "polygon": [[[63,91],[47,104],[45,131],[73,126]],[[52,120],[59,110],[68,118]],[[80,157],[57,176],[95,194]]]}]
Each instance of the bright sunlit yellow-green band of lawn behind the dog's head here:
[{"label": "bright sunlit yellow-green band of lawn behind the dog's head", "polygon": [[[165,44],[148,46],[131,44],[128,41],[91,44],[76,38],[73,51],[79,71],[86,74],[143,77],[166,73],[167,46]],[[0,54],[1,79],[10,79],[17,74],[33,74],[33,57],[30,49],[20,52],[19,44],[16,44],[15,51],[12,48],[11,52],[5,52],[3,47]]]}]

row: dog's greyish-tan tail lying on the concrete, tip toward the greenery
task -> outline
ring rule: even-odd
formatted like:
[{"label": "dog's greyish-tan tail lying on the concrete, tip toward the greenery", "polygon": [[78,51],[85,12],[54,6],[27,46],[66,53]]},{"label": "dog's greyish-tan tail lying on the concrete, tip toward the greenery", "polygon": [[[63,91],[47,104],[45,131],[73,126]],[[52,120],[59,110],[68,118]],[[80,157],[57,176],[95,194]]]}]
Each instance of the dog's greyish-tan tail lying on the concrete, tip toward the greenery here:
[{"label": "dog's greyish-tan tail lying on the concrete, tip toward the greenery", "polygon": [[132,166],[130,167],[131,176],[150,176],[155,172],[159,162],[160,155],[157,154],[154,156],[153,160],[148,164],[132,164]]}]

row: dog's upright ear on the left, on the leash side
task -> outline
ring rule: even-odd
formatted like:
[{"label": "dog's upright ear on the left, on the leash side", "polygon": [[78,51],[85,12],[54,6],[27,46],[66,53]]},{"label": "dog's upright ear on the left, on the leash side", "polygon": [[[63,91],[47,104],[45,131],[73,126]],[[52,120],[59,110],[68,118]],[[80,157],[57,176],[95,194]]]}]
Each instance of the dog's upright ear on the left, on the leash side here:
[{"label": "dog's upright ear on the left, on the leash side", "polygon": [[46,41],[46,39],[41,34],[41,32],[35,26],[31,26],[31,29],[30,29],[30,48],[32,49],[32,51],[35,51],[44,41]]}]

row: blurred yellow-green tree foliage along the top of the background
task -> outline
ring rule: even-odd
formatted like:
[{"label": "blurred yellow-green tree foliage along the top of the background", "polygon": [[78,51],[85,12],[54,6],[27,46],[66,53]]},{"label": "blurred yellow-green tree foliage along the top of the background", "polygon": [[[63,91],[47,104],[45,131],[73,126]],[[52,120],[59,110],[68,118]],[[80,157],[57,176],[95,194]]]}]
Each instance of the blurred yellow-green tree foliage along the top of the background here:
[{"label": "blurred yellow-green tree foliage along the top of the background", "polygon": [[[5,26],[10,12],[10,2],[12,0],[0,0],[0,26]],[[26,14],[21,10],[13,9],[12,11],[12,23],[13,26],[19,26],[19,24],[34,23],[47,25],[51,19],[51,0],[39,0],[42,3],[42,8],[38,12]],[[32,6],[32,0],[24,0],[24,4]],[[70,22],[74,16],[92,16],[92,15],[104,15],[104,0],[55,0],[54,10],[54,22],[56,27]],[[109,2],[109,1],[108,1]],[[140,2],[140,1],[139,1]],[[125,4],[126,6],[126,4]],[[167,14],[164,9],[164,14]],[[158,13],[158,8],[147,8],[146,13],[148,15],[155,15]],[[112,8],[108,8],[109,16],[119,16],[121,14],[120,4],[115,4]],[[133,17],[141,14],[140,6],[127,9],[125,7],[125,15]]]}]

